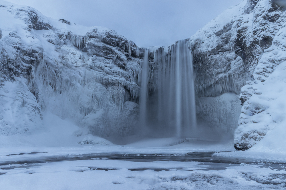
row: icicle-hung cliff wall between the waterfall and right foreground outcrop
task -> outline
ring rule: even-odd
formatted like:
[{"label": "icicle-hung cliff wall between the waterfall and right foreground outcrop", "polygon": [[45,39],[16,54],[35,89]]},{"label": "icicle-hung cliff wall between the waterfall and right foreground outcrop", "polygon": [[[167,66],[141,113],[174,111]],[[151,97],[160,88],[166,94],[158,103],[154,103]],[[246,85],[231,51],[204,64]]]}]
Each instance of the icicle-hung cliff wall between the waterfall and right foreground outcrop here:
[{"label": "icicle-hung cliff wall between the waterfall and right foreground outcrop", "polygon": [[240,89],[251,79],[234,47],[245,4],[227,9],[190,38],[198,127],[221,138],[233,138],[241,112]]}]

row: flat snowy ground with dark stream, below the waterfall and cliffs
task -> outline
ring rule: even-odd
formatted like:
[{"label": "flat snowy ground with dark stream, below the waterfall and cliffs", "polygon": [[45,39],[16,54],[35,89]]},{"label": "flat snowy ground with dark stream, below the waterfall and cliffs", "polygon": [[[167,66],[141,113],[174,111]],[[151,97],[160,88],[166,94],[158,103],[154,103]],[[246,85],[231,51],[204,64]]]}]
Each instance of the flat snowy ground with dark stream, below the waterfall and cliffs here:
[{"label": "flat snowy ground with dark stream, below the waterfall and cliffs", "polygon": [[232,142],[197,141],[191,138],[142,140],[125,146],[109,142],[108,145],[73,147],[3,147],[0,148],[0,187],[286,188],[285,154],[233,151]]}]

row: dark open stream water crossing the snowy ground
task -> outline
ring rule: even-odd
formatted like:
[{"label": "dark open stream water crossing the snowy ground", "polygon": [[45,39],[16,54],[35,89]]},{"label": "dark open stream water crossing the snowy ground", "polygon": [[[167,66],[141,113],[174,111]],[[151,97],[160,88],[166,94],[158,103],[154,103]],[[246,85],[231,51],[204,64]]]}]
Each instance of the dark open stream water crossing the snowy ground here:
[{"label": "dark open stream water crossing the snowy ground", "polygon": [[[192,152],[187,154],[129,154],[129,153],[94,153],[81,155],[63,155],[63,156],[47,156],[36,157],[30,160],[21,160],[15,162],[0,162],[0,169],[14,168],[31,168],[41,165],[46,162],[63,162],[75,160],[124,160],[131,162],[154,162],[154,161],[174,161],[174,162],[198,162],[205,170],[224,170],[229,166],[240,166],[245,164],[260,164],[263,167],[271,167],[272,169],[281,169],[281,166],[286,167],[286,163],[255,161],[251,158],[235,158],[213,155],[214,152]],[[40,154],[40,152],[31,152],[26,154]],[[11,154],[7,156],[15,156],[22,154]],[[231,164],[231,165],[230,165]],[[93,170],[112,170],[114,168],[93,168]],[[154,171],[162,171],[169,169],[184,170],[183,168],[130,168],[131,171],[144,171],[152,169]],[[4,174],[4,173],[0,173]]]}]

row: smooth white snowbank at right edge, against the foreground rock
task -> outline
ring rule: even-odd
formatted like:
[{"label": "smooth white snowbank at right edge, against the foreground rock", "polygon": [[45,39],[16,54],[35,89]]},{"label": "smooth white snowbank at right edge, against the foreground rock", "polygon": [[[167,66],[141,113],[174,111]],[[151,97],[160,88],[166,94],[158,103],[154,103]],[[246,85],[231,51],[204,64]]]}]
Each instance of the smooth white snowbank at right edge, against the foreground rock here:
[{"label": "smooth white snowbank at right edge, against the foreground rock", "polygon": [[[261,141],[253,146],[253,151],[285,153],[285,71],[286,62],[283,62],[276,67],[276,70],[271,73],[265,82],[259,84],[260,86],[255,85],[259,87],[261,95],[254,95],[254,97],[257,98],[257,103],[263,105],[266,109],[265,111],[261,110],[259,114],[253,115],[252,120],[259,120],[256,128],[260,129],[268,125],[269,131]],[[269,99],[269,97],[271,97],[271,99]],[[263,101],[265,99],[266,101]],[[254,104],[253,99],[252,101],[252,104]],[[254,127],[253,125],[253,129],[255,129]]]}]

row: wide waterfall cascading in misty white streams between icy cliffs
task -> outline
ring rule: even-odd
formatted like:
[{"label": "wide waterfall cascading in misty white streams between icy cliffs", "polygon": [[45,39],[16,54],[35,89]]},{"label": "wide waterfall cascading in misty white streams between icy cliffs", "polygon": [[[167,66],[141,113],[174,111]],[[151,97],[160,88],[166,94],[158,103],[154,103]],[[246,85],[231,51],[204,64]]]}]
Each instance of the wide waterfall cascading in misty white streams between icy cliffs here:
[{"label": "wide waterfall cascading in misty white streams between icy cliffs", "polygon": [[168,52],[160,47],[153,54],[154,62],[150,60],[150,63],[148,57],[152,56],[148,56],[148,50],[144,55],[141,124],[144,122],[149,130],[162,131],[167,136],[190,136],[196,128],[196,108],[188,41],[176,42],[168,48]]}]

